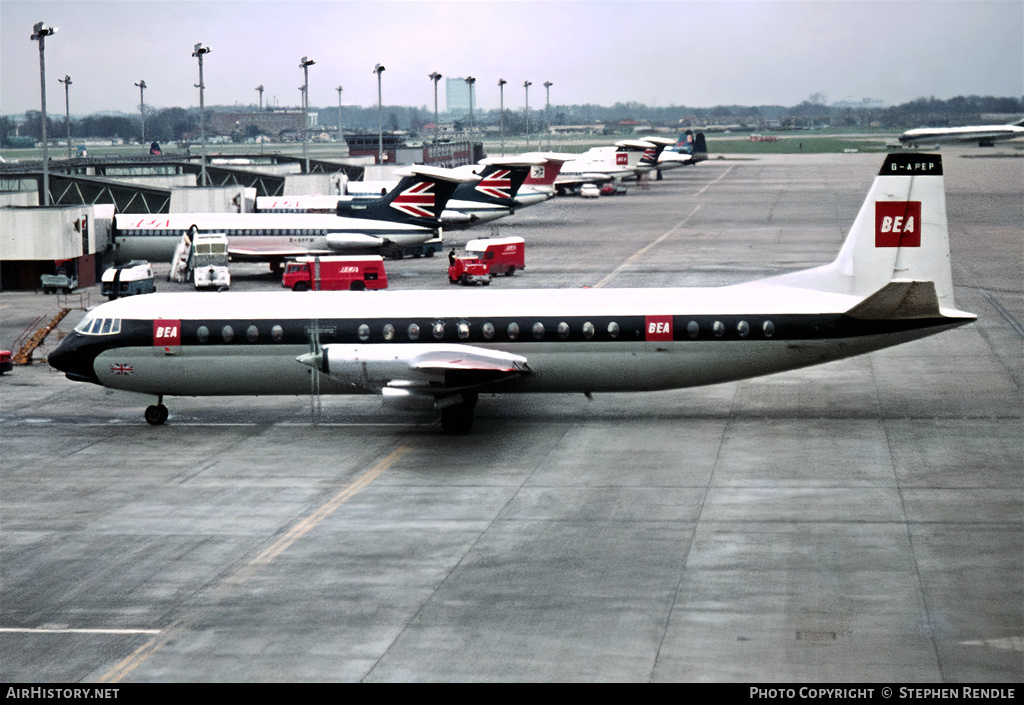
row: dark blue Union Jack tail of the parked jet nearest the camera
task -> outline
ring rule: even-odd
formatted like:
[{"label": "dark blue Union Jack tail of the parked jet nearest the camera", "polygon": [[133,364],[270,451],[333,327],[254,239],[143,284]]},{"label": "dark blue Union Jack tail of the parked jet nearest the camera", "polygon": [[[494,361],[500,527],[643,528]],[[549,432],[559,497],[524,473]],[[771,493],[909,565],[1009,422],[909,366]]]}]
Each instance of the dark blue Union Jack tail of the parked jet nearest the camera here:
[{"label": "dark blue Union Jack tail of the parked jet nearest the camera", "polygon": [[338,215],[435,227],[456,189],[477,178],[459,175],[450,169],[413,166],[398,184],[381,198],[339,203]]}]

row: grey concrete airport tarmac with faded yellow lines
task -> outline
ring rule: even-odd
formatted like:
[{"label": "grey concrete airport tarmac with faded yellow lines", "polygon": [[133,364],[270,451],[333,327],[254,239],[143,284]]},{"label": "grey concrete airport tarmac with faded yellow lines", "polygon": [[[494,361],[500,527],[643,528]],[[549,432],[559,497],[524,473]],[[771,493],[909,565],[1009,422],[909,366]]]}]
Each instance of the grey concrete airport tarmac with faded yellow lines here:
[{"label": "grey concrete airport tarmac with faded yellow lines", "polygon": [[[481,398],[466,437],[371,398],[170,399],[153,427],[15,368],[0,679],[1020,682],[1024,160],[994,154],[942,150],[978,321],[820,367]],[[824,263],[883,160],[712,159],[523,209],[500,233],[526,269],[490,289]],[[388,262],[391,287],[449,288],[445,263]],[[0,344],[52,299],[0,294]]]}]

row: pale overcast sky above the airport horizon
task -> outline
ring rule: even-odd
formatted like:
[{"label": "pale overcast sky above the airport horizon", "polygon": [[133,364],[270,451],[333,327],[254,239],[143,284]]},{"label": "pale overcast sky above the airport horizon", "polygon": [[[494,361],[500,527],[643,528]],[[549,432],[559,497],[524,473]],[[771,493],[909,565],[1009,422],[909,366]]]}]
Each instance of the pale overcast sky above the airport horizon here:
[{"label": "pale overcast sky above the airport horizon", "polygon": [[[550,0],[0,0],[0,113],[38,110],[37,22],[46,39],[47,113],[74,115],[206,102],[298,106],[308,56],[310,105],[428,106],[433,71],[477,78],[476,106],[638,101],[654,106],[783,105],[1024,94],[1024,2],[688,2]],[[444,110],[443,82],[440,109]]]}]

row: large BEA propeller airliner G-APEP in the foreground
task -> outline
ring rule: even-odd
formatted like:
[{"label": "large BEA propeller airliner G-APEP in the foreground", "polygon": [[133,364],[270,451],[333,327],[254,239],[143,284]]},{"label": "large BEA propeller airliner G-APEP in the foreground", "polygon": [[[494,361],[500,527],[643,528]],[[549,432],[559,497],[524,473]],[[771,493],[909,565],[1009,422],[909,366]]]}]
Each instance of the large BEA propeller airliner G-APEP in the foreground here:
[{"label": "large BEA propeller airliner G-APEP in the foreground", "polygon": [[684,289],[150,294],[50,355],[74,380],[165,397],[422,399],[467,432],[482,392],[653,391],[868,352],[975,320],[953,302],[942,162],[887,157],[830,264]]}]

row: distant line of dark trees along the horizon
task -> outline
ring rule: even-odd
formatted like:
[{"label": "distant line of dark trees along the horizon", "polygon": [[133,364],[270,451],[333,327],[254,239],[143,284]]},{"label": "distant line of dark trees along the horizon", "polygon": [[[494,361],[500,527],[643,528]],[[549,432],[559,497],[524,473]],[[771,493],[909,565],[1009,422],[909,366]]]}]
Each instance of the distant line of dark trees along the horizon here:
[{"label": "distant line of dark trees along the horizon", "polygon": [[[531,108],[527,114],[522,109],[504,111],[505,132],[509,135],[540,132],[549,121],[554,125],[615,125],[620,122],[645,121],[651,125],[679,127],[708,127],[722,124],[741,124],[751,129],[796,129],[809,126],[867,127],[903,130],[908,127],[945,127],[975,124],[986,114],[1024,116],[1024,97],[956,96],[941,100],[934,97],[918,98],[887,108],[864,106],[827,106],[824,95],[815,93],[797,106],[716,106],[690,108],[686,106],[651,107],[639,102],[616,102],[613,106],[571,105]],[[237,107],[211,107],[209,112],[239,112]],[[255,112],[255,108],[253,108]],[[337,129],[337,108],[313,108],[321,126]],[[433,111],[426,106],[343,107],[342,121],[345,130],[376,131],[378,116],[382,127],[388,131],[408,130],[415,134],[429,134],[425,126],[433,123]],[[469,115],[442,113],[442,123],[455,123],[456,129],[468,127]],[[197,108],[165,108],[145,113],[146,141],[178,141],[195,138],[199,133],[200,114]],[[499,110],[474,111],[473,123],[477,126],[495,126],[502,122]],[[97,113],[84,118],[72,118],[72,140],[76,137],[111,139],[140,139],[142,120],[138,115]],[[65,116],[47,116],[46,133],[51,139],[61,139],[68,133]],[[249,129],[240,137],[252,137],[258,130]],[[0,117],[0,147],[15,143],[10,137],[42,138],[42,115],[28,111],[24,120],[11,116]],[[269,135],[275,136],[275,135]]]}]

